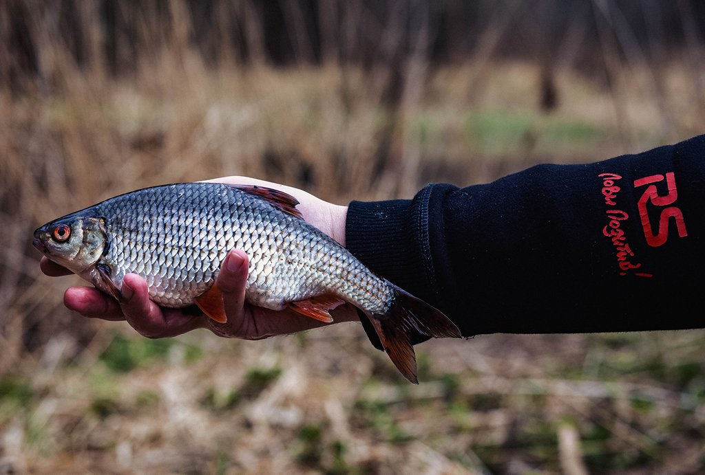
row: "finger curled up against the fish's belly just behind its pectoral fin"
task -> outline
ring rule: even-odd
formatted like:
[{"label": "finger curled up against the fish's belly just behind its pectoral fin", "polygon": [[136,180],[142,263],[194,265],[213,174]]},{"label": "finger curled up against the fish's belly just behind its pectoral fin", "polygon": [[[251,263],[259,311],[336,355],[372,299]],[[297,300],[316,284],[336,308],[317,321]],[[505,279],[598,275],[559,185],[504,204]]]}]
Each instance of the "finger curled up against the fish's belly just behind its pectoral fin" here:
[{"label": "finger curled up against the fish's belly just behind its pectoral fin", "polygon": [[147,338],[176,336],[200,327],[199,317],[178,310],[162,311],[149,299],[147,282],[136,274],[123,277],[123,299],[120,306],[125,319],[137,333]]}]

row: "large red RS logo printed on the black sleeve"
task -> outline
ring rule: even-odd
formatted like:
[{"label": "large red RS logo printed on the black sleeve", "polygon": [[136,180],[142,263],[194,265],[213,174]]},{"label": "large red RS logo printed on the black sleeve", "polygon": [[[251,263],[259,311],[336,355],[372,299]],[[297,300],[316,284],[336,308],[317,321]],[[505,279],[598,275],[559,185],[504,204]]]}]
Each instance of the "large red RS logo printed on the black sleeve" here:
[{"label": "large red RS logo printed on the black sleeve", "polygon": [[[673,172],[666,173],[666,187],[668,189],[668,194],[666,196],[659,196],[658,190],[654,183],[663,182],[663,175],[651,175],[650,177],[639,178],[634,181],[634,187],[639,188],[639,186],[646,186],[644,194],[639,198],[639,216],[642,218],[642,227],[644,228],[644,236],[646,237],[646,243],[652,247],[662,246],[668,240],[668,222],[670,218],[673,217],[675,220],[675,227],[678,229],[678,236],[685,237],[688,235],[687,229],[685,229],[685,220],[683,220],[683,213],[681,213],[680,208],[676,206],[668,206],[675,203],[678,198],[678,189],[675,186],[675,175]],[[651,222],[649,222],[649,213],[646,211],[646,203],[651,201],[654,206],[668,206],[665,210],[661,211],[661,217],[658,220],[658,232],[654,234],[651,228]]]}]

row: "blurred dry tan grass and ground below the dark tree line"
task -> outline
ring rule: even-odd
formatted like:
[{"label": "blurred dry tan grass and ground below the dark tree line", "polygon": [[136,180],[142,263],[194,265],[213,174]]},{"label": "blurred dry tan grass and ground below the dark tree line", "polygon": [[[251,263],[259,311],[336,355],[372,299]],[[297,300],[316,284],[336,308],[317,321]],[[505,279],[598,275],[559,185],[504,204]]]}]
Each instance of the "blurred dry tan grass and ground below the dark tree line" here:
[{"label": "blurred dry tan grass and ground below the dark tree line", "polygon": [[703,331],[429,342],[412,387],[355,324],[149,341],[87,321],[61,304],[78,281],[40,275],[30,244],[152,184],[252,175],[345,203],[685,139],[705,108],[678,61],[658,82],[629,65],[612,89],[560,70],[548,114],[527,63],[419,69],[389,110],[350,68],[209,70],[165,51],[118,80],[58,54],[60,87],[0,90],[0,472],[705,469]]}]

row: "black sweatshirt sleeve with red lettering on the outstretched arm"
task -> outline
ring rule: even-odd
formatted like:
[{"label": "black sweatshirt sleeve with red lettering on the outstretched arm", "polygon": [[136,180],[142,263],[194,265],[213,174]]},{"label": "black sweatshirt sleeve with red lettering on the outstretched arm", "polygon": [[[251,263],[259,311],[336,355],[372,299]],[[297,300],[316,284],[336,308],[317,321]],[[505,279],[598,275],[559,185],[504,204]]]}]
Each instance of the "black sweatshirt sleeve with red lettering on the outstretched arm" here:
[{"label": "black sweatshirt sleeve with red lettering on the outstretched arm", "polygon": [[353,201],[345,239],[472,336],[705,327],[704,236],[705,135],[463,189],[431,184],[412,200]]}]

